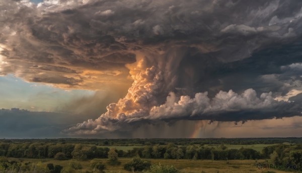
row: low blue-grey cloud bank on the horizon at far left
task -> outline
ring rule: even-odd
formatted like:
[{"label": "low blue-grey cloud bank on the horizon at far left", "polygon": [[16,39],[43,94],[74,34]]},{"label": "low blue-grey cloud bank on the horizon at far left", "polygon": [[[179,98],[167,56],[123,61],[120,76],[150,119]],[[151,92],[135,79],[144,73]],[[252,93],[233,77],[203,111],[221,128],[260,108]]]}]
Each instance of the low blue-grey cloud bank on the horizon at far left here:
[{"label": "low blue-grey cloud bank on the horizon at far left", "polygon": [[0,109],[0,138],[54,138],[70,123],[70,115],[57,112],[33,112]]}]

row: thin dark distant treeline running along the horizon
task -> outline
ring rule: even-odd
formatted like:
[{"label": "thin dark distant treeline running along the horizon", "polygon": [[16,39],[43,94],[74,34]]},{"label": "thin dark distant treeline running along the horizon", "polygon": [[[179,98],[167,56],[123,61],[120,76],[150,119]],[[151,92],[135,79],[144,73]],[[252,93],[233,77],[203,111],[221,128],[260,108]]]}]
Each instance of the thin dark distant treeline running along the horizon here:
[{"label": "thin dark distant treeline running along the horizon", "polygon": [[251,145],[251,144],[281,144],[302,143],[302,138],[197,138],[197,139],[0,139],[2,143],[60,143],[60,144],[91,144],[97,146],[144,146],[144,145]]}]

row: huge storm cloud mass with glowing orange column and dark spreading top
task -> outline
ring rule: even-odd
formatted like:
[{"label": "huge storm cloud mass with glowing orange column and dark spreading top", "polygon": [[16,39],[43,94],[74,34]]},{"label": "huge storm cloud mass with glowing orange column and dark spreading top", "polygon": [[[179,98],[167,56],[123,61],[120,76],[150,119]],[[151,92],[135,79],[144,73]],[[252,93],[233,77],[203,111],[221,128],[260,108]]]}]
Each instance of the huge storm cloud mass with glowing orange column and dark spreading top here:
[{"label": "huge storm cloud mass with glowing orange column and dark spreading top", "polygon": [[9,3],[1,6],[2,74],[89,88],[95,78],[87,74],[121,80],[128,69],[134,82],[125,98],[71,133],[164,119],[298,115],[299,103],[275,98],[302,87],[301,7],[300,1]]}]

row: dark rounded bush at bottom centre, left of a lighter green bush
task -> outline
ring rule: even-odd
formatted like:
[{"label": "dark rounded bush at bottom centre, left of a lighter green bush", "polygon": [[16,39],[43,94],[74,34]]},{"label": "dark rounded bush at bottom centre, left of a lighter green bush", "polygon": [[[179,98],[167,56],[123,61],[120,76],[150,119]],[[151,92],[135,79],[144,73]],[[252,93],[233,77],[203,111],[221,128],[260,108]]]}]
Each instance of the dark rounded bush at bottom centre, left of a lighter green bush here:
[{"label": "dark rounded bush at bottom centre, left of a lighter green bush", "polygon": [[141,160],[139,157],[133,157],[132,160],[124,165],[128,171],[141,171],[150,167],[150,161]]}]

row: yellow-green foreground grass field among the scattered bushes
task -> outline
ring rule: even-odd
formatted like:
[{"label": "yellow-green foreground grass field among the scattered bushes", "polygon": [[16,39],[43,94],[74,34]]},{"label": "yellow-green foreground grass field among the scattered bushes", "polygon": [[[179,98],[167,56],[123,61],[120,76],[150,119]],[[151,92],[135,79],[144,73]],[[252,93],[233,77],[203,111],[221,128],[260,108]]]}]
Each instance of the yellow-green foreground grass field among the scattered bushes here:
[{"label": "yellow-green foreground grass field among the scattered bushes", "polygon": [[[11,158],[14,159],[14,158]],[[16,159],[15,160],[20,160]],[[38,162],[41,161],[43,164],[47,163],[53,163],[53,164],[59,164],[63,167],[67,167],[69,162],[71,160],[54,160],[54,159],[21,159],[23,161],[30,161],[30,162]],[[98,159],[102,161],[103,163],[106,164],[107,159]],[[129,172],[123,169],[123,165],[130,161],[131,158],[119,158],[119,161],[121,162],[120,165],[117,166],[110,166],[106,165],[106,170],[105,172]],[[213,162],[211,160],[165,160],[165,159],[145,159],[145,160],[150,160],[152,164],[159,164],[161,163],[162,165],[173,165],[174,167],[178,168],[179,170],[182,170],[186,173],[189,172],[267,172],[267,171],[272,171],[272,172],[289,172],[289,171],[283,171],[283,170],[276,170],[276,169],[258,169],[256,167],[256,161],[255,160],[229,160],[229,163],[227,161],[222,161],[222,160],[214,160]],[[261,162],[264,160],[258,160],[258,162]],[[89,165],[90,165],[90,160],[88,161],[81,161],[81,164],[83,165],[82,172],[85,170],[90,170]]]}]

